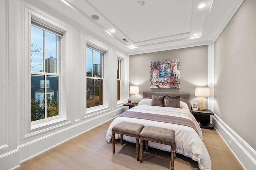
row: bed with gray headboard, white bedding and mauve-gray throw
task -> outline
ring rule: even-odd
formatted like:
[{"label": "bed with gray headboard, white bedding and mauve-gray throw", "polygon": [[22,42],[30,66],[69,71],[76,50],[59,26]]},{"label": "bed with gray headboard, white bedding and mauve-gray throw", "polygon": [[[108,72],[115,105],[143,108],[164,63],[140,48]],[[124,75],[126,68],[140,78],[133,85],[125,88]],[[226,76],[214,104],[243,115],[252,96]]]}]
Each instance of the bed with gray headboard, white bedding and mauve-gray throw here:
[{"label": "bed with gray headboard, white bedding and mauve-gray throw", "polygon": [[[168,95],[171,99],[181,96],[179,99],[179,106],[181,108],[170,107],[169,105],[169,107],[164,107],[167,106],[168,102],[168,104],[170,104],[170,101],[174,101],[169,100],[169,98],[167,98],[167,102],[165,98],[164,106],[158,106],[158,104],[157,106],[151,106],[153,103],[153,105],[155,105],[156,96],[158,96],[157,99],[159,99],[159,97],[165,95]],[[153,99],[151,99],[152,97]],[[190,113],[188,104],[189,93],[143,92],[143,99],[138,103],[138,106],[132,107],[128,111],[118,115],[118,117],[112,121],[106,133],[106,140],[111,142],[111,129],[121,121],[173,129],[176,131],[176,153],[183,154],[184,156],[188,156],[192,158],[192,160],[197,161],[198,167],[201,170],[211,170],[212,164],[208,151],[203,143],[202,130],[194,116]],[[140,115],[142,115],[142,117],[140,117]],[[148,118],[147,116],[146,118],[143,118],[145,115],[152,118]],[[171,117],[172,119],[170,119],[170,121],[165,121],[167,120],[166,117]],[[175,119],[177,119],[177,121],[179,119],[185,120],[188,123],[182,124],[173,122]],[[119,139],[120,135],[115,134],[115,138]],[[136,143],[136,139],[133,137],[124,136],[124,139]],[[170,146],[159,143],[148,142],[148,146],[169,152],[171,151]]]}]

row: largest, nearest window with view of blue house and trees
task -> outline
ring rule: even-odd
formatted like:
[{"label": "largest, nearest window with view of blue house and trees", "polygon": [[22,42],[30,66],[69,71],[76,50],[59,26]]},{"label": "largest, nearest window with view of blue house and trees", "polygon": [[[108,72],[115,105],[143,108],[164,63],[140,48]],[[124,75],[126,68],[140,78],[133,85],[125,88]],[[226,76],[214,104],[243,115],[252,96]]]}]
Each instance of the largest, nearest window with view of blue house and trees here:
[{"label": "largest, nearest window with view of blue house and trees", "polygon": [[[63,33],[31,19],[30,121],[59,115],[60,39]],[[46,86],[45,86],[46,82]]]}]

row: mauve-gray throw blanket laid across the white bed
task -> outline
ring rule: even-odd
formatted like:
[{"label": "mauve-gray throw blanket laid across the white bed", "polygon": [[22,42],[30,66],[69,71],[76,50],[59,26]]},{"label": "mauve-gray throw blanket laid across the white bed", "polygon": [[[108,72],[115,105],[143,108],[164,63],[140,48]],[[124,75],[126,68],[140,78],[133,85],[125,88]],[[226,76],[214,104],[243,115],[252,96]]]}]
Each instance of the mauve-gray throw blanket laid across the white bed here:
[{"label": "mauve-gray throw blanket laid across the white bed", "polygon": [[198,133],[196,126],[194,125],[194,122],[183,117],[176,117],[176,116],[170,116],[170,115],[158,115],[158,114],[151,114],[151,113],[141,113],[136,111],[124,111],[122,114],[118,115],[117,117],[131,117],[131,118],[137,118],[137,119],[146,119],[146,120],[152,120],[152,121],[160,121],[165,123],[184,125],[184,126],[192,127]]}]

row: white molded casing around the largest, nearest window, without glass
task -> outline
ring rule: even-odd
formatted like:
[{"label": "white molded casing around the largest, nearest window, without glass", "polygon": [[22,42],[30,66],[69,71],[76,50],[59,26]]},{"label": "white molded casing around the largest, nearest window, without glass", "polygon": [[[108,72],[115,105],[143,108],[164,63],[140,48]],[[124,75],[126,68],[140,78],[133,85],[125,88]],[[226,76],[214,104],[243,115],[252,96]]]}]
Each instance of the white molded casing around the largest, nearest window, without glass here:
[{"label": "white molded casing around the largest, nearest window, without glass", "polygon": [[[32,127],[32,123],[30,122],[30,59],[26,56],[30,55],[30,23],[31,23],[31,17],[34,16],[40,20],[43,20],[51,25],[54,25],[54,27],[58,27],[61,31],[64,32],[64,36],[61,41],[61,48],[65,49],[62,50],[62,63],[68,63],[64,62],[67,60],[68,57],[66,57],[66,53],[68,53],[67,43],[68,43],[68,36],[70,36],[70,27],[68,25],[62,24],[60,21],[56,21],[52,18],[50,18],[47,15],[42,14],[41,12],[30,8],[28,5],[22,3],[22,139],[25,139],[27,137],[31,137],[33,135],[38,135],[40,133],[52,130],[54,128],[62,127],[64,125],[67,125],[70,123],[67,119],[67,111],[66,111],[66,104],[65,101],[66,98],[62,96],[62,94],[66,95],[67,90],[65,87],[61,86],[60,88],[60,98],[62,98],[60,103],[60,113],[61,113],[61,119],[52,121],[51,125],[48,125],[47,123],[51,122],[48,121],[46,123],[41,123],[42,125],[35,126],[36,128]],[[69,47],[69,46],[68,46]],[[63,68],[67,68],[66,65],[61,65]],[[66,74],[66,69],[63,69],[64,71],[61,72],[62,75]],[[65,73],[63,73],[65,72]],[[61,82],[61,76],[59,81]],[[64,81],[64,80],[63,80]],[[67,84],[66,82],[61,84]],[[62,88],[63,87],[63,88]]]}]

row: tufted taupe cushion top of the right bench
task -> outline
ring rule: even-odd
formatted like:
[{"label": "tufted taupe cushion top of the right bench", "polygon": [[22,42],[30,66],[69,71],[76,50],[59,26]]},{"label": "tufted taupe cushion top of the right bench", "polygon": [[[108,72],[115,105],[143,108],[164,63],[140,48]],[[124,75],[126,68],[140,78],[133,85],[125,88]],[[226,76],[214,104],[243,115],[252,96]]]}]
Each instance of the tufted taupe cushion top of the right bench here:
[{"label": "tufted taupe cushion top of the right bench", "polygon": [[140,137],[150,137],[160,141],[175,143],[175,131],[162,127],[145,126],[140,133]]}]

